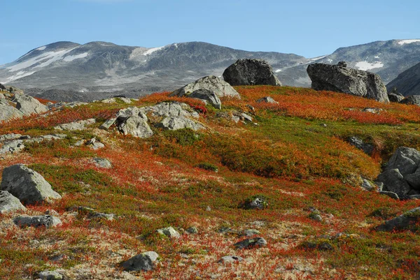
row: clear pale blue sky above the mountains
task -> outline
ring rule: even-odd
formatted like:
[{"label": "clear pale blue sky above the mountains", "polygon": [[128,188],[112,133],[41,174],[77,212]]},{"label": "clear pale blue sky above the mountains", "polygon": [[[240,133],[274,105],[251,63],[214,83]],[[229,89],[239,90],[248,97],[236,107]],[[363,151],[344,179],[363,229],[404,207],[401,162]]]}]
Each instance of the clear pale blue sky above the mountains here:
[{"label": "clear pale blue sky above the mountains", "polygon": [[57,41],[202,41],[310,58],[420,38],[419,0],[3,0],[0,10],[0,65]]}]

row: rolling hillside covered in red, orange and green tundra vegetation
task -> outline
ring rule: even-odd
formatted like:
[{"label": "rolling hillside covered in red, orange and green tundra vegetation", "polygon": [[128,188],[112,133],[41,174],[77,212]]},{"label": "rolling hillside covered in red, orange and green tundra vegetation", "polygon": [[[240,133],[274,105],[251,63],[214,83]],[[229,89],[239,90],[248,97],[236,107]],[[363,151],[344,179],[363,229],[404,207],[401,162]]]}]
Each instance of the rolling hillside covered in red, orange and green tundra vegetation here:
[{"label": "rolling hillside covered in red, orange and green tundra vegetation", "polygon": [[[0,135],[39,141],[20,138],[25,149],[2,155],[0,171],[24,163],[62,199],[1,214],[0,278],[36,279],[43,270],[65,279],[419,277],[418,231],[373,230],[419,200],[393,200],[360,186],[398,147],[420,149],[420,107],[295,87],[235,89],[241,99],[221,97],[222,110],[162,92],[1,123]],[[256,102],[265,96],[277,103]],[[162,102],[187,103],[204,129],[151,126],[153,136],[144,139],[99,129],[120,109]],[[91,118],[81,130],[55,128]],[[372,154],[350,145],[351,136],[372,145]],[[104,147],[83,145],[92,138]],[[255,198],[260,209],[248,205]],[[20,214],[46,211],[62,225],[13,224]],[[169,226],[181,236],[157,233]],[[235,249],[245,234],[263,237],[267,246]],[[154,270],[119,267],[146,251],[159,255]],[[219,263],[223,256],[239,261]]]}]

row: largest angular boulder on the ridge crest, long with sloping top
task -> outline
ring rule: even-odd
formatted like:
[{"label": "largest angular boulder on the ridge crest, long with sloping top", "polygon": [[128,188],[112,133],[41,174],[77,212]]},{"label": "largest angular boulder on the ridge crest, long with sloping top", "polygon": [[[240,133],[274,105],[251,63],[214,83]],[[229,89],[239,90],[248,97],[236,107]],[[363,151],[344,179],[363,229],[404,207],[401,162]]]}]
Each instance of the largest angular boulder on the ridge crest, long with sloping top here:
[{"label": "largest angular boulder on the ridge crest, long with sloping top", "polygon": [[379,75],[330,64],[309,64],[312,89],[337,91],[388,103],[386,87]]}]

